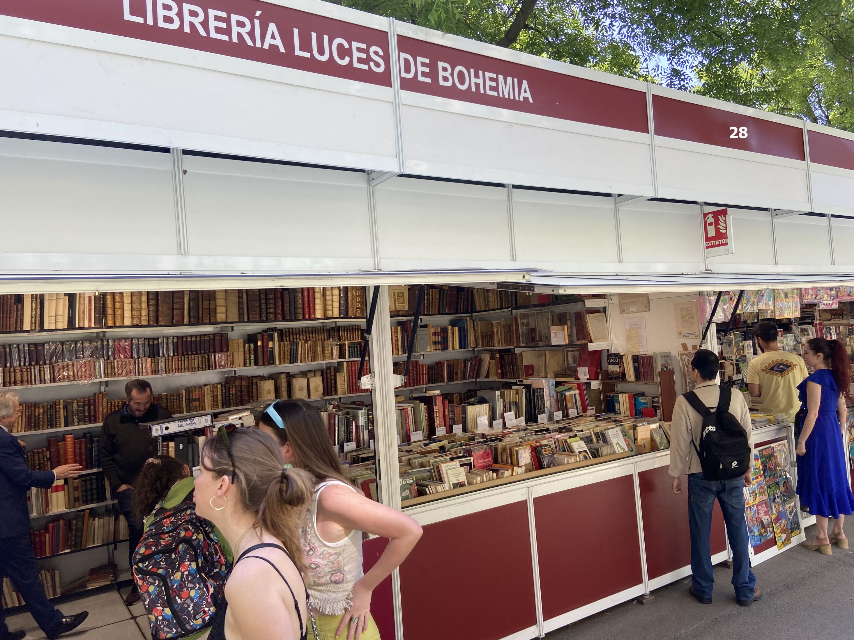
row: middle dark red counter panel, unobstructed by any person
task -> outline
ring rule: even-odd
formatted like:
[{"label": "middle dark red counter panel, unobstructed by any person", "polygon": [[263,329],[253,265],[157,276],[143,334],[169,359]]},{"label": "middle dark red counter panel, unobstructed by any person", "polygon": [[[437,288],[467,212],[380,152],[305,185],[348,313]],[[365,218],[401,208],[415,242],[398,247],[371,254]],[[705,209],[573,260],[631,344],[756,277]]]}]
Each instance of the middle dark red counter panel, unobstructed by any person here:
[{"label": "middle dark red counter panel, unobstructed by any person", "polygon": [[535,497],[534,513],[544,620],[643,582],[631,475]]}]

